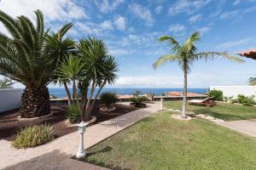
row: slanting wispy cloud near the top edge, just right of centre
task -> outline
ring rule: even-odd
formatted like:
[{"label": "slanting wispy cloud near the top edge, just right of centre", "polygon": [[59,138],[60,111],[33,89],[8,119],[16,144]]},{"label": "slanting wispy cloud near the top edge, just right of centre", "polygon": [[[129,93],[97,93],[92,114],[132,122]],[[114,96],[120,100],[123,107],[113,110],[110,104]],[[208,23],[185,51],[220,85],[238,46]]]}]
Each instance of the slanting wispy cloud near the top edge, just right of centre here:
[{"label": "slanting wispy cloud near the top edge, just right of centre", "polygon": [[145,20],[147,26],[153,26],[154,19],[148,8],[137,3],[133,3],[129,5],[129,9],[131,10],[132,14],[135,14],[138,18]]}]

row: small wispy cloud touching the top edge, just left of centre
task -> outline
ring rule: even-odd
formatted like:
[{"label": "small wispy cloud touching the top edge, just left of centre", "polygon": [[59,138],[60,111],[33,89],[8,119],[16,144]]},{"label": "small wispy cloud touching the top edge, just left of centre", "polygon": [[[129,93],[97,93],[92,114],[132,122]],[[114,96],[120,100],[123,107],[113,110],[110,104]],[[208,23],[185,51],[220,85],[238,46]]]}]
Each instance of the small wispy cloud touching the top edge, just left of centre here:
[{"label": "small wispy cloud touching the top edge, just left of centre", "polygon": [[96,1],[97,7],[102,11],[102,13],[107,14],[110,11],[113,11],[119,6],[119,4],[124,3],[125,0],[114,0],[109,3],[108,0]]}]

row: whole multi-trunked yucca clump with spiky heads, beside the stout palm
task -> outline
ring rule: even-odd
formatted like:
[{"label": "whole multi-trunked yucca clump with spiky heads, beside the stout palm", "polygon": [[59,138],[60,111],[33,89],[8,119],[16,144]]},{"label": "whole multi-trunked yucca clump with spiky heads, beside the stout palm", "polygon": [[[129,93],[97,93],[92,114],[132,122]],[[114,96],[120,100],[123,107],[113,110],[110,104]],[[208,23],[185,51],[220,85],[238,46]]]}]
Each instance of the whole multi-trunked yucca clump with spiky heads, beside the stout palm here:
[{"label": "whole multi-trunked yucca clump with spiky heads, beside the stout palm", "polygon": [[[118,65],[113,56],[108,55],[102,40],[82,39],[77,48],[78,55],[64,60],[57,73],[61,82],[72,82],[72,105],[79,106],[81,120],[87,121],[102,88],[116,80]],[[67,96],[71,98],[71,94]]]}]

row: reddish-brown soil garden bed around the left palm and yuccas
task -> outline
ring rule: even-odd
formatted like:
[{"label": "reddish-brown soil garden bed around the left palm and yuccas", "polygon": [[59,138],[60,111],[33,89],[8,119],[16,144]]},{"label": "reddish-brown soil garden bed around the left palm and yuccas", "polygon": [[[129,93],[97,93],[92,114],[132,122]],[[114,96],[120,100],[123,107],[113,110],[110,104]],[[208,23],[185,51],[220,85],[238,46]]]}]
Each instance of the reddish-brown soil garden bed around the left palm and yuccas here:
[{"label": "reddish-brown soil garden bed around the left palm and yuccas", "polygon": [[[96,106],[92,111],[92,116],[96,116],[96,122],[89,126],[135,110],[137,110],[137,108],[130,105],[116,105],[115,111],[106,113],[99,111],[98,106]],[[35,124],[44,123],[54,127],[55,138],[77,131],[77,127],[67,127],[67,105],[52,105],[51,113],[52,116],[32,121],[18,121],[17,117],[20,116],[19,110],[0,113],[0,139],[12,141],[15,139],[15,135],[20,131],[21,127],[29,127]]]}]

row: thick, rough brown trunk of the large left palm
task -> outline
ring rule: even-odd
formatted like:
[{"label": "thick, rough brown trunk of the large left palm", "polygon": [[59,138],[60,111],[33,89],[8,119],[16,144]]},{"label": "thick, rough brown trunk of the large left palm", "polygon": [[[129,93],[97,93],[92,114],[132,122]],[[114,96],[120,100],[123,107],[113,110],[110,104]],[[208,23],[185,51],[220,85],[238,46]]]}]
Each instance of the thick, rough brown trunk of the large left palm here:
[{"label": "thick, rough brown trunk of the large left palm", "polygon": [[49,91],[46,87],[25,88],[21,96],[21,117],[44,116],[50,113]]}]

